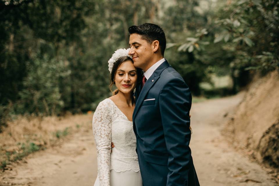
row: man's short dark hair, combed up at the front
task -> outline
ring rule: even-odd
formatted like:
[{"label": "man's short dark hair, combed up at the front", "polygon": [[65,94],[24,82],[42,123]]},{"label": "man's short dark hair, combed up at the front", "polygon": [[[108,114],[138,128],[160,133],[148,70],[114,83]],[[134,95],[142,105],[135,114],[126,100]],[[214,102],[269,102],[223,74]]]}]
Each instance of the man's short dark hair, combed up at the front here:
[{"label": "man's short dark hair, combed up at the front", "polygon": [[144,23],[138,26],[130,26],[128,30],[130,34],[136,33],[141,35],[142,39],[148,41],[149,43],[158,40],[162,56],[164,56],[167,41],[165,33],[160,26],[152,23]]}]

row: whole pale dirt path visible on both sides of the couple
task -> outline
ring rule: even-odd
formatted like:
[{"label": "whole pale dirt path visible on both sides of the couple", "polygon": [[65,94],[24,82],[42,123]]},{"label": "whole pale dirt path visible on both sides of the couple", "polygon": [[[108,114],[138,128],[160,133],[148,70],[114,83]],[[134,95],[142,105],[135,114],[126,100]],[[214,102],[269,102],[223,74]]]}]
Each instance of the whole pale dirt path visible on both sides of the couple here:
[{"label": "whole pale dirt path visible on both sides of the couple", "polygon": [[[200,184],[207,186],[275,186],[264,169],[225,141],[220,130],[242,94],[194,103],[191,109],[192,156]],[[78,116],[77,116],[78,117]],[[92,186],[97,176],[96,148],[88,126],[55,148],[28,156],[0,174],[0,186]]]}]

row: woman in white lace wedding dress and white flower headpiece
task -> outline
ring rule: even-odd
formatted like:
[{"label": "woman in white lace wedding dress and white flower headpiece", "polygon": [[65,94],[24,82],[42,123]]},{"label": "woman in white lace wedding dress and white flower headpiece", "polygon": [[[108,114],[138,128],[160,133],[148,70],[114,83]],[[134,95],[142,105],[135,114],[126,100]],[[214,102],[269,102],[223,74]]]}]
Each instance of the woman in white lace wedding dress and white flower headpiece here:
[{"label": "woman in white lace wedding dress and white flower headpiece", "polygon": [[129,49],[118,49],[108,61],[110,87],[115,84],[117,90],[101,101],[94,112],[92,126],[98,163],[94,186],[142,186],[132,121],[133,90],[141,78],[128,52]]}]

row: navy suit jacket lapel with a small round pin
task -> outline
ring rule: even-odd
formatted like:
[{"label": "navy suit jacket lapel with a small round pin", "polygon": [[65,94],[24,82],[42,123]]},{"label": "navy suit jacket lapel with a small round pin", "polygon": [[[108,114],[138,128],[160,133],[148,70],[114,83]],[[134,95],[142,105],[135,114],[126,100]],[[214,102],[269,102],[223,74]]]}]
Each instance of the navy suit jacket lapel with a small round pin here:
[{"label": "navy suit jacket lapel with a small round pin", "polygon": [[[146,83],[144,84],[140,95],[138,98],[136,98],[136,105],[135,105],[135,110],[133,112],[133,121],[135,121],[135,116],[137,115],[137,112],[140,108],[140,106],[142,105],[142,102],[147,94],[147,92],[151,89],[151,87],[156,83],[156,81],[160,78],[160,74],[161,72],[165,69],[169,67],[169,63],[167,62],[167,60],[165,60],[151,75],[151,77],[146,81]],[[140,85],[141,86],[141,85]]]}]

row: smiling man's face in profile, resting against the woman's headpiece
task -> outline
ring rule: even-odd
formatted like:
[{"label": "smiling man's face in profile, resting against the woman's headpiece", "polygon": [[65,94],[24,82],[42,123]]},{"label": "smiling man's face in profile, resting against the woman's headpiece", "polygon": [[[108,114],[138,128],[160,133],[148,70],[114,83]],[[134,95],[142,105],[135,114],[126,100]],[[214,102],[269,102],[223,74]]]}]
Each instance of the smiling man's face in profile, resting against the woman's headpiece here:
[{"label": "smiling man's face in profile, resting against the woman's headpiece", "polygon": [[135,67],[146,71],[153,55],[151,44],[136,33],[130,35],[129,44],[129,55],[132,56]]}]

